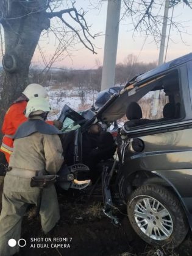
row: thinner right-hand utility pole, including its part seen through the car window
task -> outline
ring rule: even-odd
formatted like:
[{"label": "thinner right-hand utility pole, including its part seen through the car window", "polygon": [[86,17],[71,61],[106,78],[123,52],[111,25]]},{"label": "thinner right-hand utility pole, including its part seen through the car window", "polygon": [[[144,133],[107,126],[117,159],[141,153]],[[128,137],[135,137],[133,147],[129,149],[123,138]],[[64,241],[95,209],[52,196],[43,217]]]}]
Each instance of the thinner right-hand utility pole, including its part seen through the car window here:
[{"label": "thinner right-hand utility pole, including its part seen through the car window", "polygon": [[[164,16],[163,16],[162,38],[161,38],[161,44],[160,44],[160,51],[158,55],[158,66],[163,64],[163,57],[164,57],[164,51],[165,51],[165,39],[166,39],[166,27],[168,24],[168,13],[169,13],[169,0],[166,0]],[[160,96],[160,91],[155,91],[154,102],[152,106],[152,117],[157,115],[159,96]]]}]

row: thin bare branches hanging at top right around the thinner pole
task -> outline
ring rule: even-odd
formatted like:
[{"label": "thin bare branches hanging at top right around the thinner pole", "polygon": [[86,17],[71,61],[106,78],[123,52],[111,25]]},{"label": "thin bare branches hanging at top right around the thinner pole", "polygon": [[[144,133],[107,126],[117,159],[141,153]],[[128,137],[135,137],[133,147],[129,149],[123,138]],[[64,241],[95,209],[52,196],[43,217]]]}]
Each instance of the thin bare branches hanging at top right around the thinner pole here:
[{"label": "thin bare branches hanging at top right around the thinner pole", "polygon": [[[169,8],[182,3],[191,8],[191,1],[188,0],[171,0]],[[158,44],[162,32],[164,5],[165,1],[163,0],[123,0],[121,21],[130,21],[128,24],[133,26],[133,36],[135,32],[139,32],[143,36],[152,36],[155,43]],[[176,22],[173,17],[168,18],[168,23],[172,23],[172,27],[182,38],[182,34],[186,32],[183,29],[182,21]]]}]

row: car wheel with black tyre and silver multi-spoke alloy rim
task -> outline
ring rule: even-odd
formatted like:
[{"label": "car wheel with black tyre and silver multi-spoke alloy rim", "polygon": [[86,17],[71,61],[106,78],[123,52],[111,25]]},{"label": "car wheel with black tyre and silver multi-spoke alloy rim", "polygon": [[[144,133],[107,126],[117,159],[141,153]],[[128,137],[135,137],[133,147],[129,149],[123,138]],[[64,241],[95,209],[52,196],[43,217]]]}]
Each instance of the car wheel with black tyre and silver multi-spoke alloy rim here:
[{"label": "car wheel with black tyre and silver multi-spoke alloy rim", "polygon": [[143,185],[127,203],[133,229],[153,246],[177,247],[188,232],[188,222],[176,195],[160,185]]}]

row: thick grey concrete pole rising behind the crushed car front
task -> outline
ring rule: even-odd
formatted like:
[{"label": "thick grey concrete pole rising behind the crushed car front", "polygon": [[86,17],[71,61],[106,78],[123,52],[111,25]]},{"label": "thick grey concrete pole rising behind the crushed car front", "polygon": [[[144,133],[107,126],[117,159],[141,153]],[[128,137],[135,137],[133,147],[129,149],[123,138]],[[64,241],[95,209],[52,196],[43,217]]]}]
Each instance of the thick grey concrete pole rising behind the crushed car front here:
[{"label": "thick grey concrete pole rising behind the crushed car front", "polygon": [[108,0],[101,90],[110,88],[115,84],[120,10],[121,0]]}]

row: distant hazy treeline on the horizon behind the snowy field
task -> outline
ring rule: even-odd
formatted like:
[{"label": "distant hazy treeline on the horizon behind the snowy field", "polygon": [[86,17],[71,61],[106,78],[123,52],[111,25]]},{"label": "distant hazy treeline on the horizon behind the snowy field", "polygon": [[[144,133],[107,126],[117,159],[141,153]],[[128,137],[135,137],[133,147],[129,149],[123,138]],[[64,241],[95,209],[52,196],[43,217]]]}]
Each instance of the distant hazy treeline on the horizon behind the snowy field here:
[{"label": "distant hazy treeline on the horizon behind the snowy field", "polygon": [[[115,85],[124,85],[127,80],[137,74],[145,73],[157,66],[156,62],[137,62],[134,55],[129,55],[124,63],[116,65]],[[41,69],[30,69],[30,82],[43,84],[44,86],[55,85],[57,87],[81,87],[92,90],[100,90],[102,66],[98,69],[49,69],[44,73]],[[113,86],[113,85],[112,85]]]}]

